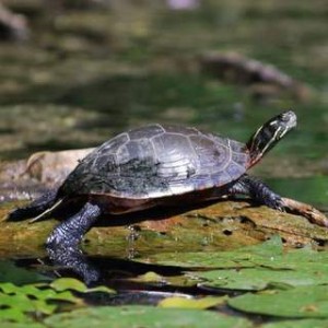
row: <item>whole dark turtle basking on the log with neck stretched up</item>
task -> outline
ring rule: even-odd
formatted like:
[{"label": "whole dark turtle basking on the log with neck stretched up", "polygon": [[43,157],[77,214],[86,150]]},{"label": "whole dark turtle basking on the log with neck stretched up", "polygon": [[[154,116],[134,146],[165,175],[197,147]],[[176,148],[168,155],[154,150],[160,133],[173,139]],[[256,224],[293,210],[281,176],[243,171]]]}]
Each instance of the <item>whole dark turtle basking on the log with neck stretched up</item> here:
[{"label": "whole dark turtle basking on the log with neck stretched up", "polygon": [[98,274],[86,265],[79,243],[103,214],[232,195],[283,210],[281,197],[246,171],[295,126],[296,115],[284,112],[246,144],[196,128],[156,124],[130,130],[90,153],[58,190],[16,209],[9,219],[39,219],[72,202],[79,204],[78,212],[50,234],[47,249],[55,262],[73,267],[91,282]]}]

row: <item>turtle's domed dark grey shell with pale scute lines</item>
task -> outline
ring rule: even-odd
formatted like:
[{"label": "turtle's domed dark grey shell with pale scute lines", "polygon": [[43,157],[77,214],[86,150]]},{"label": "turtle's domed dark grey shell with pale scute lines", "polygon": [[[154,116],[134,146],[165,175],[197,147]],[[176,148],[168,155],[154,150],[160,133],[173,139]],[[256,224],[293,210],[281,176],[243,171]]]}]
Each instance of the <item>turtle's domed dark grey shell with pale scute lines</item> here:
[{"label": "turtle's domed dark grey shell with pale scute lines", "polygon": [[195,128],[151,125],[106,141],[60,188],[65,196],[163,198],[223,186],[248,168],[244,143]]}]

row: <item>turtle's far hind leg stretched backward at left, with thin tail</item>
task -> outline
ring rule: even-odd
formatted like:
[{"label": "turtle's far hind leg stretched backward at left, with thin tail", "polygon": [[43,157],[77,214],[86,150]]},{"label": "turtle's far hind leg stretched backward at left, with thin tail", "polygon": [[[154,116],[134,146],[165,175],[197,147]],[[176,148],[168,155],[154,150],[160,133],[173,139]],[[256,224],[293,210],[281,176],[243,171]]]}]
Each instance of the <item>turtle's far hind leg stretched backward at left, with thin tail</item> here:
[{"label": "turtle's far hind leg stretched backward at left, with thin tail", "polygon": [[42,197],[32,201],[24,208],[19,208],[9,213],[9,221],[22,221],[25,219],[34,218],[31,222],[38,221],[48,216],[62,201],[58,198],[57,190],[51,190],[44,194]]}]

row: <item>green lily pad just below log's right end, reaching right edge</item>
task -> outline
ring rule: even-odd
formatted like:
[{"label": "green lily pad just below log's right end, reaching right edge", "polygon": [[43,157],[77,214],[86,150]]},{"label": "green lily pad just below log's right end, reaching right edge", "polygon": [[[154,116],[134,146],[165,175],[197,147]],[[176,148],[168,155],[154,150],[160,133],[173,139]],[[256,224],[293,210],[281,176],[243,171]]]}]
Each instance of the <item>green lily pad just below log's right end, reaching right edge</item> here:
[{"label": "green lily pad just below log's right end, reaching right edge", "polygon": [[[294,249],[270,256],[256,254],[243,261],[241,267],[194,274],[206,279],[206,285],[237,290],[261,290],[272,284],[297,286],[328,283],[327,253]],[[247,267],[247,262],[253,266]]]}]

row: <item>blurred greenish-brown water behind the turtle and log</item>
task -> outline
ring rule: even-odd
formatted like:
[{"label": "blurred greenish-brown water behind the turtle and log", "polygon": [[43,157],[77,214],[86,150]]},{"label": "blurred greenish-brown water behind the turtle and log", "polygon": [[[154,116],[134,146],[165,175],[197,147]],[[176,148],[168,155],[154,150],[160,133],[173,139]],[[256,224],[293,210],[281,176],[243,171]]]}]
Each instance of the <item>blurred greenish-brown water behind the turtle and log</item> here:
[{"label": "blurred greenish-brown water behind the turtle and log", "polygon": [[[293,108],[297,129],[255,173],[326,207],[327,1],[190,2],[2,1],[26,25],[20,40],[0,44],[0,160],[94,147],[154,121],[247,141]],[[220,56],[237,58],[232,79],[208,67]],[[249,81],[251,60],[293,86]]]}]

